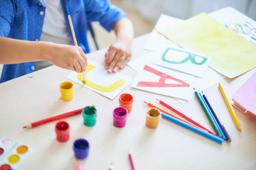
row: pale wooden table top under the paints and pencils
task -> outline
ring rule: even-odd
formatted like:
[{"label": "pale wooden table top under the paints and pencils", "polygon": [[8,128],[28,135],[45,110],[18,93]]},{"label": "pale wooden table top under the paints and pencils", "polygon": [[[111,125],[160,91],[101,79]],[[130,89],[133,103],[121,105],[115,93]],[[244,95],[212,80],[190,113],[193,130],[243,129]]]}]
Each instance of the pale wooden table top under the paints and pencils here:
[{"label": "pale wooden table top under the paints and pencils", "polygon": [[[132,60],[148,53],[143,50],[148,38],[149,34],[134,40]],[[106,50],[92,52],[87,57],[103,64]],[[132,78],[136,75],[130,67],[120,72]],[[236,79],[220,81],[229,98],[254,72],[255,69]],[[68,80],[68,74],[69,70],[52,66],[0,84],[0,137],[14,138],[33,149],[19,169],[75,169],[73,142],[81,137],[90,143],[89,156],[79,161],[83,169],[108,169],[111,162],[115,169],[132,169],[129,150],[136,169],[255,169],[256,123],[235,110],[242,132],[235,127],[218,82],[204,92],[232,138],[232,142],[222,145],[163,118],[158,128],[146,128],[145,115],[149,107],[144,101],[164,108],[156,101],[159,98],[213,130],[196,98],[181,104],[174,98],[128,86],[122,93],[134,97],[132,112],[124,128],[115,128],[112,111],[119,106],[118,96],[110,100],[74,83],[73,100],[63,101],[59,86]],[[96,125],[91,128],[83,125],[82,115],[65,118],[71,128],[68,142],[56,140],[56,122],[23,129],[36,120],[90,105],[97,108]]]}]

